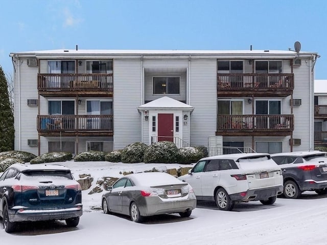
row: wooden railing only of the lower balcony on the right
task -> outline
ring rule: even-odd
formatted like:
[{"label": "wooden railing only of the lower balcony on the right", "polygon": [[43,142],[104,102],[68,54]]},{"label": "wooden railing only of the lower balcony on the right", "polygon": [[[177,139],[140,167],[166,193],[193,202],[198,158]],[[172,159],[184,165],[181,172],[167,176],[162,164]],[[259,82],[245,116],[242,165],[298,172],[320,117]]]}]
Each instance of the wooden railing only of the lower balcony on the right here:
[{"label": "wooden railing only of the lower balcony on the right", "polygon": [[293,115],[218,115],[217,131],[292,131]]}]

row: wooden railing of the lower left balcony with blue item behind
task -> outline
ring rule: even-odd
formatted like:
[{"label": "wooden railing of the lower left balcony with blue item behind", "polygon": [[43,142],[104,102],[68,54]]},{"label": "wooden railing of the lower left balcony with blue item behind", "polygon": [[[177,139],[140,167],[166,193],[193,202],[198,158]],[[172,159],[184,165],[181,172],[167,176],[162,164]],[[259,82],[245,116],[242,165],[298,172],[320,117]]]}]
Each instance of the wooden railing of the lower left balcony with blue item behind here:
[{"label": "wooden railing of the lower left balcony with blue item behind", "polygon": [[113,131],[112,115],[47,115],[37,116],[39,132]]}]

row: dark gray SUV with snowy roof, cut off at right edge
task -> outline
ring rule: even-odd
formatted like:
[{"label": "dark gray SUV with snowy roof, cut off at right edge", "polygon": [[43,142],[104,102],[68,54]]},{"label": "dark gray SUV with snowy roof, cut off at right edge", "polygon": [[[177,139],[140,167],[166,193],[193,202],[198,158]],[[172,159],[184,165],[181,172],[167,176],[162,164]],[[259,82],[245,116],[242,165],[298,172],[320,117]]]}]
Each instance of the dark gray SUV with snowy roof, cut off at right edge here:
[{"label": "dark gray SUV with snowy roof, cut off at right edge", "polygon": [[284,196],[298,198],[303,191],[327,194],[327,152],[303,151],[271,154],[281,167]]}]

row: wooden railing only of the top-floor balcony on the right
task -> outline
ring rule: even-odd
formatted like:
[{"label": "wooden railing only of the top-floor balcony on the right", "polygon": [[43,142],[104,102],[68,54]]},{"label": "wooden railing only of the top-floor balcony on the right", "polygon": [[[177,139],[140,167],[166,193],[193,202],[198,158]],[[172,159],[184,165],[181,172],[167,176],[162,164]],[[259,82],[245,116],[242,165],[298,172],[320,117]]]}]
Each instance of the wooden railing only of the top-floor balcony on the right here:
[{"label": "wooden railing only of the top-floor balcony on the right", "polygon": [[217,74],[217,82],[219,90],[293,89],[294,75],[292,73]]}]

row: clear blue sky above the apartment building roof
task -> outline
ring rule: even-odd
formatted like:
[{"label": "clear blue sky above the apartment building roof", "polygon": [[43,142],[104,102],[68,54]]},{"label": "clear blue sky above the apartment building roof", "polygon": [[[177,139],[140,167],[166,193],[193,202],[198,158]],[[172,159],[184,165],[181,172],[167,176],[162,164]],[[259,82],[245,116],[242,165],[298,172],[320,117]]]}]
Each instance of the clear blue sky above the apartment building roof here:
[{"label": "clear blue sky above the apartment building roof", "polygon": [[0,65],[11,52],[53,49],[256,50],[317,52],[327,79],[324,0],[3,0]]}]

